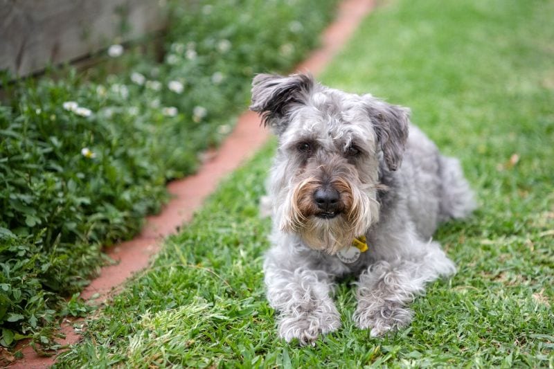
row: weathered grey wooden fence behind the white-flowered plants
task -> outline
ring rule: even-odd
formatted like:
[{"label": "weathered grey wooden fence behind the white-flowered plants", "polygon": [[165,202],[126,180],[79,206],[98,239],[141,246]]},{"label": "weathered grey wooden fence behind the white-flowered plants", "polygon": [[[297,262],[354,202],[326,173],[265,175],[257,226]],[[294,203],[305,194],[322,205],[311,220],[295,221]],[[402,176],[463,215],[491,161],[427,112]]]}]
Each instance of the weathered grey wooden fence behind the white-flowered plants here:
[{"label": "weathered grey wooden fence behind the white-flowered plants", "polygon": [[163,0],[0,0],[0,70],[78,60],[163,29]]}]

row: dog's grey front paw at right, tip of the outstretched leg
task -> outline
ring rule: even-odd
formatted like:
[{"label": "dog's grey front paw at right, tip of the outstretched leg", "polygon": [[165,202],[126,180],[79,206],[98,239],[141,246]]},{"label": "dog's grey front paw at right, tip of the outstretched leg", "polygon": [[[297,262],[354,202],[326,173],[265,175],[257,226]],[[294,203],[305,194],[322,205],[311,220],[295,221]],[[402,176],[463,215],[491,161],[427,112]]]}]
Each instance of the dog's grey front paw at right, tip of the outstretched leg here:
[{"label": "dog's grey front paw at right, tip of the outstretched leg", "polygon": [[[360,304],[364,305],[364,304]],[[413,312],[396,303],[360,306],[354,312],[356,326],[370,329],[370,336],[377,337],[404,327],[411,322]]]}]

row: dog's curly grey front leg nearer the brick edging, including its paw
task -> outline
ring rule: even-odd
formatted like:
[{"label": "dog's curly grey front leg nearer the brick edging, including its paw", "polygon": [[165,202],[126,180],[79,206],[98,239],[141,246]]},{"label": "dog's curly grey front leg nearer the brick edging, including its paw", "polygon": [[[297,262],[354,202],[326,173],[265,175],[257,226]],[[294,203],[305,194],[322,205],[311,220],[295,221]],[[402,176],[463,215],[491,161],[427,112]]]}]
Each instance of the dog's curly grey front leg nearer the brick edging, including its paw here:
[{"label": "dog's curly grey front leg nearer the brick edging, including its paw", "polygon": [[278,262],[268,255],[264,264],[267,299],[276,309],[279,336],[301,345],[314,343],[319,334],[337,330],[340,315],[330,297],[328,273],[301,267],[297,262]]}]

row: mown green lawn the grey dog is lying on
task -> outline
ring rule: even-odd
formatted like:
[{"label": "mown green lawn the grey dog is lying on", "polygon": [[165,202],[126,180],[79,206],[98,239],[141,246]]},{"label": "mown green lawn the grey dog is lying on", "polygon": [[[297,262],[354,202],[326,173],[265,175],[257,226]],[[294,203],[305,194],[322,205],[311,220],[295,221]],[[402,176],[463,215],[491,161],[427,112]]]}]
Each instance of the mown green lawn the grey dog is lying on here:
[{"label": "mown green lawn the grey dog is lying on", "polygon": [[553,17],[538,0],[392,1],[321,77],[411,107],[476,190],[474,216],[436,234],[458,273],[415,300],[408,328],[370,338],[342,284],[340,330],[313,348],[278,339],[261,271],[270,224],[257,210],[271,143],[57,365],[552,368]]}]

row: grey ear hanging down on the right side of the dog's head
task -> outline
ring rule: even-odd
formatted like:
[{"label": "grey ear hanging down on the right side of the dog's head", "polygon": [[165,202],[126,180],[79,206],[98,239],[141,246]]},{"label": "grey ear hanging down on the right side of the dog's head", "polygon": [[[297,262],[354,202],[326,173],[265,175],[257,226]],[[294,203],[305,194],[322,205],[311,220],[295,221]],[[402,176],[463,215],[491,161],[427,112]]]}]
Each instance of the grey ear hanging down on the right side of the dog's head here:
[{"label": "grey ear hanging down on the right side of the dog's head", "polygon": [[377,143],[381,146],[389,170],[397,170],[402,164],[402,156],[408,139],[410,109],[390,105],[370,95],[364,96],[368,102],[368,112]]}]

